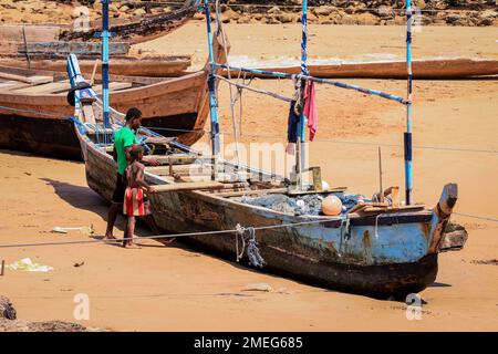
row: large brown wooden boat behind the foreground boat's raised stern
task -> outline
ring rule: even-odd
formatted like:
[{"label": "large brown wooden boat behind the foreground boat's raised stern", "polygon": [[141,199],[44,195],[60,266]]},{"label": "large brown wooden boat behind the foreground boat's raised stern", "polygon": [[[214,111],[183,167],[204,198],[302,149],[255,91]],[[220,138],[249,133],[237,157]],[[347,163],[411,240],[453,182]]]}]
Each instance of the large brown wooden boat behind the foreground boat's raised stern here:
[{"label": "large brown wooden boat behind the foreground boat's raised stern", "polygon": [[[218,44],[216,50],[224,61],[221,49]],[[68,119],[74,113],[66,100],[70,81],[58,81],[60,73],[40,73],[0,67],[0,147],[79,159],[80,145]],[[110,102],[121,112],[138,107],[144,126],[191,145],[204,135],[208,116],[207,73],[208,66],[168,80],[117,76],[122,82],[111,82]]]}]

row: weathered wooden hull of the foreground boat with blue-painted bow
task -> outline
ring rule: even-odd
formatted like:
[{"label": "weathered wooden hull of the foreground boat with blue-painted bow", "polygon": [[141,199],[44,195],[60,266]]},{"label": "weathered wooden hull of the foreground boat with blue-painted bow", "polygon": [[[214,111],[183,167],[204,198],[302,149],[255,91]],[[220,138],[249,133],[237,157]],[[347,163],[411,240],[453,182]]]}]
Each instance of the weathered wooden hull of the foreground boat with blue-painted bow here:
[{"label": "weathered wooden hull of the foreground boat with blue-painted bow", "polygon": [[[74,128],[85,156],[86,180],[93,190],[110,200],[116,164],[110,155],[112,143],[98,144],[96,139],[95,125],[101,123],[102,106],[92,90],[76,91],[76,95],[80,104],[74,114]],[[120,116],[116,112],[112,118],[114,129],[117,129]],[[238,238],[234,231],[181,238],[186,242],[235,260],[242,249],[240,238],[251,246],[256,238],[257,251],[266,262],[263,270],[374,296],[418,292],[436,279],[438,252],[457,200],[456,185],[445,187],[434,209],[388,207],[365,214],[346,211],[336,217],[295,216],[294,212],[250,205],[240,198],[251,194],[290,197],[282,178],[274,176],[271,184],[261,184],[258,177],[264,173],[236,166],[239,173],[235,175],[234,165],[220,160],[217,165],[219,179],[214,183],[209,157],[204,158],[147,129],[142,129],[139,135],[148,147],[155,147],[154,157],[165,165],[146,168],[146,179],[157,191],[149,196],[154,217],[163,229],[174,233],[204,232],[235,230],[239,225],[253,227],[256,232],[247,229],[249,232],[242,232]],[[162,154],[157,153],[159,145]],[[203,174],[203,166],[207,166],[207,175]],[[246,170],[243,176],[240,171]],[[172,173],[181,177],[175,179]],[[221,175],[236,179],[227,181],[220,178]],[[199,177],[204,183],[199,183]],[[343,189],[325,195],[331,194],[340,198],[346,196]],[[461,247],[463,241],[460,243]],[[255,248],[251,251],[248,248],[243,260],[255,252]]]}]

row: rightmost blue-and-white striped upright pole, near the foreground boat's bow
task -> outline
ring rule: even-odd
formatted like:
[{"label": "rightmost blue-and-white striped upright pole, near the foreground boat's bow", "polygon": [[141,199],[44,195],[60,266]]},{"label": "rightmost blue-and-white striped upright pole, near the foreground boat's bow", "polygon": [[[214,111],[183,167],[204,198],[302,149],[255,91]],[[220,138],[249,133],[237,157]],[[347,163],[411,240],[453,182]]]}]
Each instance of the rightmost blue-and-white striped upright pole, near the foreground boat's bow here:
[{"label": "rightmost blue-and-white striped upright pole, near the foreground boat's bow", "polygon": [[407,104],[406,133],[404,134],[405,150],[405,194],[406,205],[413,204],[412,190],[412,0],[406,0],[406,69],[407,69]]}]

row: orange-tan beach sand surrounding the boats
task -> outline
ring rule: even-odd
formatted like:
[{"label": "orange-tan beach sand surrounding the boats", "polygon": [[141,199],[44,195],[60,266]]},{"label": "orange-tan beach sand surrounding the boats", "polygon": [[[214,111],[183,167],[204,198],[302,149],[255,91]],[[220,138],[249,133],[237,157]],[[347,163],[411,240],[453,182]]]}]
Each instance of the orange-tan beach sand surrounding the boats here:
[{"label": "orange-tan beach sand surrounding the boats", "polygon": [[[263,46],[245,40],[249,29],[251,35],[268,42],[283,37],[288,40]],[[290,54],[291,50],[298,50],[290,38],[299,35],[299,31],[290,27],[230,25],[227,30],[236,55],[286,56],[295,55]],[[322,25],[311,27],[311,31],[317,37],[312,38],[310,51],[317,50],[321,58],[376,53],[382,51],[378,45],[392,45],[384,52],[403,55],[401,28],[375,28],[380,33],[365,27]],[[189,35],[188,42],[185,34]],[[377,38],[371,34],[383,34],[378,45]],[[340,35],[347,40],[340,40]],[[366,40],[367,35],[371,40]],[[418,35],[415,56],[418,52],[427,56],[496,58],[497,29],[428,28]],[[204,39],[204,27],[193,23],[152,43],[160,43],[162,51],[168,53],[199,48],[200,58],[205,53]],[[329,41],[339,44],[328,46]],[[143,44],[147,45],[153,44]],[[401,81],[353,82],[401,95],[405,90]],[[286,82],[257,81],[255,85],[291,93]],[[416,146],[495,152],[416,148],[417,201],[433,206],[443,185],[456,181],[460,191],[457,212],[498,218],[494,208],[498,195],[497,92],[496,80],[415,82]],[[230,131],[225,85],[220,95],[222,126]],[[287,105],[250,93],[245,94],[243,101],[247,137],[242,140],[260,140],[249,135],[263,134],[272,136],[269,142],[283,142]],[[320,142],[311,147],[312,164],[322,166],[322,174],[332,186],[349,186],[350,190],[372,195],[377,187],[376,146],[323,139],[401,145],[403,108],[377,97],[323,86],[318,87],[318,104]],[[383,156],[384,185],[403,186],[402,148],[384,147]],[[50,233],[55,226],[92,223],[97,235],[104,232],[106,204],[86,187],[82,164],[2,152],[0,168],[0,243],[87,239],[77,232]],[[454,220],[467,227],[469,240],[463,251],[440,254],[436,283],[421,293],[426,302],[421,321],[406,319],[404,303],[312,288],[255,272],[179,243],[164,248],[154,241],[142,241],[148,247],[141,250],[108,244],[0,249],[0,259],[7,263],[30,257],[55,269],[49,273],[8,270],[6,277],[0,277],[0,294],[12,300],[22,320],[74,322],[73,298],[86,293],[91,301],[90,321],[79,323],[118,331],[497,331],[498,267],[474,261],[498,259],[498,223],[463,216],[455,216]],[[122,236],[123,225],[120,219],[116,236]],[[141,230],[139,235],[148,233]],[[76,268],[76,262],[84,264]],[[273,291],[242,291],[255,282],[266,282]]]}]

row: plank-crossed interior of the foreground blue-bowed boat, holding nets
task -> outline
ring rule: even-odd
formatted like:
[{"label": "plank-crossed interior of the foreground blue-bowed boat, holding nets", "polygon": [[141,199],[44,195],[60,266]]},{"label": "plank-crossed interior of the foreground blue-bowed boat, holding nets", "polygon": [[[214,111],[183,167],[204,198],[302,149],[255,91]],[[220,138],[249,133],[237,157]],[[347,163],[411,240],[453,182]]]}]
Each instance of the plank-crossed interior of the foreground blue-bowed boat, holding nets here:
[{"label": "plank-crossed interior of the foreground blue-bowed boat, holding nets", "polygon": [[[98,98],[82,98],[80,101],[80,133],[108,156],[113,155],[113,133],[123,126],[124,115],[111,108],[111,126],[104,129],[102,102]],[[424,205],[402,206],[398,202],[398,188],[391,188],[391,198],[381,200],[362,200],[359,195],[351,195],[346,187],[322,187],[319,167],[311,167],[311,183],[307,188],[297,188],[295,183],[271,173],[266,173],[249,166],[237,165],[227,160],[215,160],[200,152],[176,142],[176,138],[163,137],[142,127],[137,134],[138,142],[145,150],[144,160],[154,159],[158,166],[147,166],[146,175],[157,192],[176,190],[196,190],[212,197],[228,198],[246,202],[247,198],[280,195],[291,198],[293,202],[307,199],[307,196],[319,196],[319,200],[330,195],[352,202],[343,210],[349,217],[375,216],[385,212],[423,211]],[[245,199],[246,198],[246,199]],[[274,210],[274,209],[273,209]],[[277,210],[282,211],[282,210]],[[289,211],[289,210],[287,210]],[[320,211],[314,216],[324,217]]]}]

